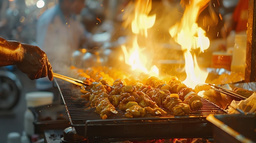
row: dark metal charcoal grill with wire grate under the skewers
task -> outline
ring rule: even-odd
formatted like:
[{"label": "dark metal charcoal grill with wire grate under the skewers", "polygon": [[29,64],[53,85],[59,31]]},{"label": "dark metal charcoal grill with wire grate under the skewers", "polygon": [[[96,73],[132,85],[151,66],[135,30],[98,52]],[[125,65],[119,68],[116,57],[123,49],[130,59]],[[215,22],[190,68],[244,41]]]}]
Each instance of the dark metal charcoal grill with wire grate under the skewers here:
[{"label": "dark metal charcoal grill with wire grate under the skewers", "polygon": [[172,138],[212,138],[212,124],[206,120],[209,114],[227,114],[216,104],[202,99],[203,108],[186,116],[175,117],[164,109],[164,116],[147,114],[141,118],[126,118],[124,111],[115,116],[101,119],[89,101],[82,98],[80,87],[57,79],[71,125],[79,135],[90,142],[110,142],[126,140],[172,139]]}]

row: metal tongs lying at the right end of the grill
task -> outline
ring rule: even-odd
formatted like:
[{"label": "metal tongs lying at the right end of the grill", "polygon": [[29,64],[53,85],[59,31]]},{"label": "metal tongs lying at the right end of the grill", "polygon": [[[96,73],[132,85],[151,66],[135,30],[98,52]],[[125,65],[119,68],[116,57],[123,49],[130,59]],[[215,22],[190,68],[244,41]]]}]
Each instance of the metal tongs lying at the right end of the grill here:
[{"label": "metal tongs lying at the right end of the grill", "polygon": [[213,84],[209,84],[211,86],[211,89],[213,90],[216,90],[218,92],[221,92],[225,95],[229,95],[231,97],[235,97],[236,99],[238,100],[244,100],[244,99],[247,99],[246,97],[243,97],[242,95],[238,95],[236,92],[234,91],[231,91],[231,90],[228,90],[228,89],[225,89],[225,88],[222,88],[220,86],[216,86],[216,85],[213,85]]}]

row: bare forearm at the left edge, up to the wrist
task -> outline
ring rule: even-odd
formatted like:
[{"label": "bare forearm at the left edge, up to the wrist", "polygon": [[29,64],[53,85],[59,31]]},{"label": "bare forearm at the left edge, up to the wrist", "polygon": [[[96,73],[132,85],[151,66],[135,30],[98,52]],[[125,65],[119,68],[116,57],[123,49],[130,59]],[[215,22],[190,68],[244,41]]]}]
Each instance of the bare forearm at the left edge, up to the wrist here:
[{"label": "bare forearm at the left edge, up to the wrist", "polygon": [[14,65],[22,62],[24,53],[23,44],[0,37],[0,66]]}]

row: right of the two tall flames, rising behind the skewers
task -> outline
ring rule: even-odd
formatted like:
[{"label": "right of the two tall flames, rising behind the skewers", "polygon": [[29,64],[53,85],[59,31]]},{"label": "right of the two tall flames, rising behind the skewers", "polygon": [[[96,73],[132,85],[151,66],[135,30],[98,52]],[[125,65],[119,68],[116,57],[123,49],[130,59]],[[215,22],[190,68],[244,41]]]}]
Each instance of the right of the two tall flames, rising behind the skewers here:
[{"label": "right of the two tall flames, rising behind the skewers", "polygon": [[[186,4],[184,15],[180,23],[176,23],[169,29],[169,33],[181,45],[184,51],[186,79],[183,81],[187,86],[194,88],[197,84],[205,82],[208,73],[200,70],[196,58],[192,57],[191,49],[200,48],[204,52],[209,48],[210,41],[205,31],[198,27],[196,20],[200,8],[204,6],[205,0],[192,0]],[[195,65],[194,65],[195,63]]]}]

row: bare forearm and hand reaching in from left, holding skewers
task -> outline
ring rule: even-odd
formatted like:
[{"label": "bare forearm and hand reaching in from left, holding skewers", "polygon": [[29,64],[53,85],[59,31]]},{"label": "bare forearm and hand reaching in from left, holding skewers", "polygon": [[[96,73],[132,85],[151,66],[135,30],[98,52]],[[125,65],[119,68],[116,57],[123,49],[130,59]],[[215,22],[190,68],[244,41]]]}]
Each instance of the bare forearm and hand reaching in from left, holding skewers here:
[{"label": "bare forearm and hand reaching in from left, holding skewers", "polygon": [[37,46],[0,37],[0,51],[0,66],[16,65],[31,80],[48,75],[48,79],[52,81],[52,66],[45,52]]}]

